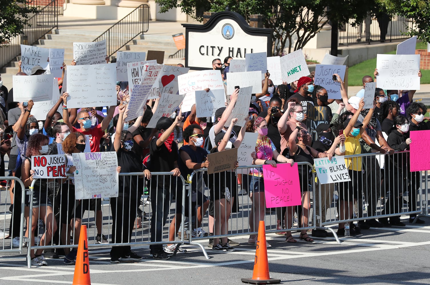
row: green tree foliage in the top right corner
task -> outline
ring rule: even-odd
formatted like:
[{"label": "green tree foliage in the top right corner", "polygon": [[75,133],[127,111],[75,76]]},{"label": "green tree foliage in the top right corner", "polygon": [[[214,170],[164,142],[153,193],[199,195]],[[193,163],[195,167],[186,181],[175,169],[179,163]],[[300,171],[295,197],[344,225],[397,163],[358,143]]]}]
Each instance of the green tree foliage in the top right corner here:
[{"label": "green tree foliage in the top right corner", "polygon": [[388,13],[400,14],[412,19],[414,26],[406,32],[409,36],[418,36],[430,42],[430,1],[429,0],[378,0]]}]

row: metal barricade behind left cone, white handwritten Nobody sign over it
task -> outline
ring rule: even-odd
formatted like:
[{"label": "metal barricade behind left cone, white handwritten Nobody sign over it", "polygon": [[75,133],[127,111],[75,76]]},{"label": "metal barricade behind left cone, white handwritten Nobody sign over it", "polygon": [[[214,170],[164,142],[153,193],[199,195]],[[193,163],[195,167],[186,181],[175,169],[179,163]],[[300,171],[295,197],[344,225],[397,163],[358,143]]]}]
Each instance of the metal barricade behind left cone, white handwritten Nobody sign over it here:
[{"label": "metal barricade behind left cone, white handwritten Nobody sign over it", "polygon": [[[29,268],[31,267],[30,256],[32,250],[77,248],[80,224],[87,225],[89,247],[162,246],[166,244],[175,244],[174,254],[176,254],[179,245],[184,243],[184,233],[182,230],[181,238],[176,239],[178,233],[177,231],[174,233],[171,232],[169,225],[173,222],[174,228],[178,229],[181,222],[184,224],[183,213],[186,183],[183,177],[175,177],[171,172],[151,173],[151,180],[144,179],[142,173],[120,173],[119,175],[120,179],[124,179],[123,189],[120,189],[119,192],[132,194],[128,196],[120,195],[119,197],[109,198],[109,200],[102,198],[75,200],[74,185],[70,182],[73,176],[68,177],[67,181],[63,181],[62,183],[58,182],[59,179],[49,179],[47,183],[39,183],[39,187],[34,186],[38,180],[45,180],[46,182],[48,179],[35,179],[31,183],[30,191],[28,191],[31,201],[35,193],[39,198],[43,197],[41,200],[45,198],[49,199],[52,204],[54,211],[53,216],[55,216],[56,223],[52,223],[52,217],[46,217],[43,221],[44,225],[40,225],[45,229],[45,232],[40,233],[40,230],[36,232],[39,233],[37,245],[33,246],[31,243],[28,243],[27,261]],[[141,176],[141,178],[135,178],[137,176]],[[125,185],[132,179],[137,179],[137,191],[134,189],[131,189],[132,191],[128,189],[127,191],[126,189]],[[155,184],[151,184],[151,181],[155,180],[160,182],[161,179],[163,179],[163,188],[158,186],[154,187]],[[145,194],[146,191],[149,192],[149,195]],[[148,197],[152,198],[148,199]],[[164,197],[164,201],[161,201],[160,197]],[[175,200],[175,197],[178,197],[179,200]],[[160,209],[157,208],[154,213],[151,209],[151,204],[154,204],[155,207],[161,204],[164,205],[164,207]],[[133,210],[133,205],[137,206],[136,212]],[[148,205],[149,207],[144,207]],[[112,209],[114,209],[114,211],[112,211]],[[145,215],[144,211],[146,209],[147,213]],[[36,208],[34,212],[35,215],[29,215],[29,224],[32,224],[34,218],[38,221],[40,218],[44,218],[40,216],[40,207]],[[141,212],[141,214],[139,214],[139,212]],[[174,220],[175,214],[181,216],[179,221]],[[24,216],[24,212],[22,216]],[[140,216],[141,219],[139,219]],[[154,237],[157,237],[155,242],[151,242],[151,218],[153,217],[158,222],[161,222],[160,227],[155,227]],[[162,219],[160,219],[160,217],[162,217]],[[49,221],[51,221],[51,223],[49,223]],[[73,227],[72,223],[74,224]],[[127,226],[127,223],[129,226]],[[46,224],[50,224],[50,227]],[[118,227],[120,227],[120,230],[115,232],[117,237],[114,242],[112,240],[112,233],[113,230]],[[23,231],[23,223],[21,228]],[[131,230],[131,235],[129,235],[126,230]],[[106,236],[109,243],[101,243],[101,241],[97,239],[96,234],[98,234],[99,231],[101,233],[100,239]],[[49,239],[45,240],[44,237],[47,233],[48,236],[51,233],[53,234]],[[120,235],[120,237],[118,237],[118,235]],[[34,234],[32,230],[30,230],[26,241],[31,241],[33,236]],[[42,239],[40,240],[40,238]]]}]

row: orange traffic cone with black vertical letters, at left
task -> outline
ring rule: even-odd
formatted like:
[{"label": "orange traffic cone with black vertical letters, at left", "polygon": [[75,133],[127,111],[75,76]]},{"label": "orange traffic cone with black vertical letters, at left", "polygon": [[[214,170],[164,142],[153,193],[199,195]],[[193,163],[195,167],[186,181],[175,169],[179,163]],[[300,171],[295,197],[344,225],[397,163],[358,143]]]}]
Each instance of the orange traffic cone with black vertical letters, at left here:
[{"label": "orange traffic cone with black vertical letters, at left", "polygon": [[84,224],[81,225],[72,285],[91,285],[91,279],[89,278],[88,236],[86,225]]}]

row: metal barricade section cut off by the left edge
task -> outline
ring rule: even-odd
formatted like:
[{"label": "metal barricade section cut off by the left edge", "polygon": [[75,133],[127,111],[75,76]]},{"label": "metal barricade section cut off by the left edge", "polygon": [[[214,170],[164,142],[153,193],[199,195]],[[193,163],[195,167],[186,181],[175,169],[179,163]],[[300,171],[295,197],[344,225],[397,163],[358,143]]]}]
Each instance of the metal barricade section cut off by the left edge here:
[{"label": "metal barricade section cut off by the left edge", "polygon": [[[0,197],[0,229],[3,230],[0,239],[0,254],[6,252],[21,254],[24,244],[24,233],[22,229],[24,228],[25,221],[25,187],[21,179],[13,176],[3,176],[0,177],[0,180],[6,180],[6,191],[2,191],[1,194],[3,194],[3,197]],[[11,183],[12,181],[14,182],[13,186]],[[10,199],[9,191],[13,192],[13,201]],[[12,213],[9,213],[9,209],[12,210]],[[9,236],[10,239],[6,239],[7,236]]]}]

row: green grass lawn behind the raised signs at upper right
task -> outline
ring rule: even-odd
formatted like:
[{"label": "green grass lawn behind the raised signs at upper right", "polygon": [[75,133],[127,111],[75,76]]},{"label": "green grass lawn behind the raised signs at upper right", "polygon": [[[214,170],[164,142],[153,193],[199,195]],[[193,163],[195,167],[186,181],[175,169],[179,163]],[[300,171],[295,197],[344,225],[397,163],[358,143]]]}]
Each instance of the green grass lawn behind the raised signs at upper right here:
[{"label": "green grass lawn behind the raised signs at upper right", "polygon": [[[427,43],[417,42],[417,49],[427,49]],[[396,51],[388,52],[387,55],[395,55]],[[348,85],[361,86],[362,78],[365,75],[373,77],[373,72],[376,68],[376,58],[368,59],[359,64],[356,64],[348,69]],[[430,70],[421,70],[421,84],[430,84]]]}]

